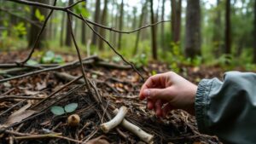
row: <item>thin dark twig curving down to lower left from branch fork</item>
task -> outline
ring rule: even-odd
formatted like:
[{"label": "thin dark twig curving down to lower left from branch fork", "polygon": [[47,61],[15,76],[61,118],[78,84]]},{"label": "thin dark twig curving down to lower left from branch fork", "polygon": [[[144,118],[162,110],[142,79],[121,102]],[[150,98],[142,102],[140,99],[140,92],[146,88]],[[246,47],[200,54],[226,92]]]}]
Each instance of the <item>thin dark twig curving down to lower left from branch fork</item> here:
[{"label": "thin dark twig curving down to lower left from branch fork", "polygon": [[[55,2],[54,2],[54,6],[56,5],[56,1],[57,1],[57,0],[55,0]],[[51,14],[53,13],[53,11],[54,11],[54,9],[51,9],[50,12],[49,12],[49,14],[47,15],[46,19],[44,20],[44,24],[43,24],[42,28],[40,29],[40,32],[38,33],[38,36],[37,36],[37,38],[36,38],[36,41],[35,41],[35,43],[34,43],[34,45],[33,45],[33,48],[31,49],[29,55],[26,57],[25,60],[22,60],[22,61],[20,61],[20,62],[16,62],[17,65],[19,65],[19,64],[22,65],[22,64],[26,63],[26,61],[31,58],[31,56],[32,56],[32,54],[33,54],[33,52],[34,52],[34,50],[36,49],[36,46],[38,45],[38,42],[39,42],[40,37],[41,37],[42,33],[44,32],[44,28],[45,28],[45,26],[46,26],[46,24],[47,24],[47,22],[48,22],[48,20],[49,20],[49,17],[50,17]]]}]

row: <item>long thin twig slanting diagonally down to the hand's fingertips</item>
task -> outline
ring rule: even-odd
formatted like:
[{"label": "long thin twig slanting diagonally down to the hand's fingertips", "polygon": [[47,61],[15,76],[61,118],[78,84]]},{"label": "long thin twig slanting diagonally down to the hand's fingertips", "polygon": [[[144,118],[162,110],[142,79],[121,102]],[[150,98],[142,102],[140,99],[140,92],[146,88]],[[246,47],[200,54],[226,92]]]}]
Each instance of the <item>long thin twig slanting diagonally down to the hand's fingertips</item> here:
[{"label": "long thin twig slanting diagonally down to the hand's fingertips", "polygon": [[[82,17],[83,20],[84,20],[84,17],[83,17],[82,14],[81,14],[81,17]],[[123,56],[123,55],[120,55],[119,52],[118,52],[116,49],[114,49],[113,46],[112,46],[104,37],[102,37],[101,34],[99,34],[98,32],[96,32],[96,31],[88,24],[88,22],[87,22],[86,20],[84,20],[84,22],[85,22],[85,24],[90,28],[91,31],[95,32],[98,37],[101,37],[102,40],[103,40],[105,43],[108,44],[108,46],[113,50],[113,52],[114,52],[116,55],[119,55],[119,57],[120,57],[122,60],[124,60],[126,64],[130,65],[130,66],[137,72],[137,74],[138,74],[141,78],[143,78],[143,81],[144,81],[145,78],[143,77],[143,74],[141,74],[141,72],[139,72],[139,71],[137,70],[137,68],[136,68],[131,62],[129,62],[128,60],[125,60],[124,56]]]}]

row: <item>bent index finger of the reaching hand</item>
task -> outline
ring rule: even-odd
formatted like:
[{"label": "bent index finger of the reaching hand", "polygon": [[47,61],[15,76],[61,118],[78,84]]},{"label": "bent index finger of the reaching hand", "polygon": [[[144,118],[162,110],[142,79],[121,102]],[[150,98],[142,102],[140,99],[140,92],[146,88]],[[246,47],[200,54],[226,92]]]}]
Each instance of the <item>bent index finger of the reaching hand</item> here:
[{"label": "bent index finger of the reaching hand", "polygon": [[146,95],[143,95],[144,89],[157,88],[160,85],[160,77],[162,74],[156,74],[154,76],[149,77],[146,82],[143,84],[142,89],[140,90],[139,98],[144,100]]}]

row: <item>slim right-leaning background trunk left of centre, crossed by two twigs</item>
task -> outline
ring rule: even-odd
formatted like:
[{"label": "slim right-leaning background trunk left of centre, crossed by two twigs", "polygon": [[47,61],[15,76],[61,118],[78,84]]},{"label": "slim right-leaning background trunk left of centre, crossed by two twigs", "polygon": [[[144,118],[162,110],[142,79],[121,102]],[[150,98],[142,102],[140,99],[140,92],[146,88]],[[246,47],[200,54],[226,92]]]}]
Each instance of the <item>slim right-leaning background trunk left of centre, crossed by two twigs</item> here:
[{"label": "slim right-leaning background trunk left of centre, crossed by two twigs", "polygon": [[[108,0],[104,0],[104,9],[103,9],[103,12],[102,12],[102,21],[101,21],[101,24],[102,25],[106,25],[106,20],[107,20],[107,10],[108,10]],[[106,30],[101,28],[100,29],[100,34],[102,35],[102,37],[105,37],[106,35]],[[104,49],[104,44],[103,44],[103,40],[100,40],[99,41],[99,49]]]}]

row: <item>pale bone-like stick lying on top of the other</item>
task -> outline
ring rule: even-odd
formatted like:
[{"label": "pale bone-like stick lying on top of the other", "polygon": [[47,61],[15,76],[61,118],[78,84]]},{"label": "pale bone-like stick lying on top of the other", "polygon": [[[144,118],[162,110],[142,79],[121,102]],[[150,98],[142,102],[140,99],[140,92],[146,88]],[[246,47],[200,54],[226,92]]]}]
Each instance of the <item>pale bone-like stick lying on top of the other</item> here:
[{"label": "pale bone-like stick lying on top of the other", "polygon": [[113,119],[108,121],[108,123],[104,123],[100,125],[101,130],[103,130],[104,133],[108,133],[109,130],[112,130],[122,122],[122,120],[125,118],[126,113],[127,113],[127,108],[124,106],[121,107]]}]

